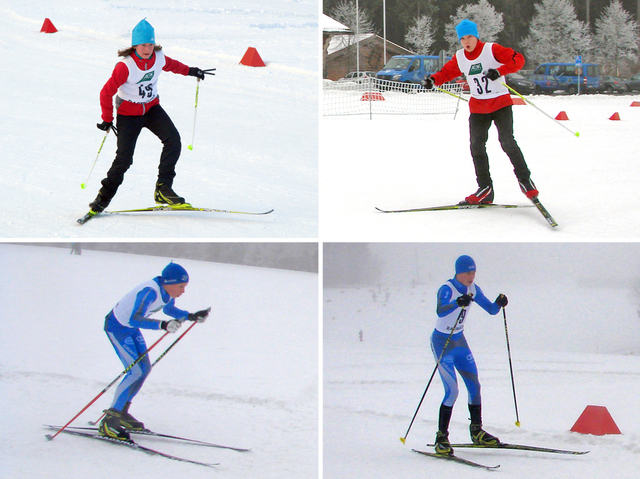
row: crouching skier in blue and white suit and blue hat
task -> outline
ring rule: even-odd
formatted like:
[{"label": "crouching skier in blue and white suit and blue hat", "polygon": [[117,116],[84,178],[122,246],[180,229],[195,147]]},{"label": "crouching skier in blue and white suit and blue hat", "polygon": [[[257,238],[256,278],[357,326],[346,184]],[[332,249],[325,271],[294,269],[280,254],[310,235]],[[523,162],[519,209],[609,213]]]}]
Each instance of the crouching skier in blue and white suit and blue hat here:
[{"label": "crouching skier in blue and white suit and blue hat", "polygon": [[[175,306],[175,299],[184,293],[188,283],[187,271],[179,264],[171,262],[164,268],[161,276],[136,286],[109,312],[104,330],[125,367],[129,367],[147,351],[141,328],[163,329],[175,333],[183,321],[204,322],[207,319],[211,308],[191,314]],[[160,321],[149,317],[160,310],[174,319]],[[116,389],[111,407],[104,411],[105,417],[99,427],[100,434],[113,439],[128,440],[127,429],[144,429],[144,424],[129,414],[129,406],[150,372],[151,362],[148,355],[127,372]]]}]

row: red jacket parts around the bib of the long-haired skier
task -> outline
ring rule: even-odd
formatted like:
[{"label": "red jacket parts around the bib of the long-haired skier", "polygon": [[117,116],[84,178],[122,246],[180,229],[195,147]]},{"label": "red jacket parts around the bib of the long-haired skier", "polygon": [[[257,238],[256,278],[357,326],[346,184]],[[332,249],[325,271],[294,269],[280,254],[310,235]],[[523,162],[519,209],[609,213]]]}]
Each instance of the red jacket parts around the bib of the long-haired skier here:
[{"label": "red jacket parts around the bib of the long-haired skier", "polygon": [[[180,75],[188,75],[189,67],[179,61],[173,60],[168,56],[164,56],[166,63],[162,68],[162,71],[179,73]],[[156,62],[155,52],[151,55],[151,58],[144,60],[134,53],[131,54],[131,58],[136,62],[136,65],[141,70],[148,70],[153,67]],[[118,92],[118,88],[123,85],[129,77],[129,68],[124,62],[118,62],[113,69],[111,78],[104,84],[102,90],[100,90],[100,108],[102,109],[102,119],[107,122],[113,121],[113,95]],[[160,103],[160,97],[154,98],[149,103],[132,103],[129,101],[123,101],[118,108],[120,115],[126,116],[142,116],[146,111],[154,105]]]}]

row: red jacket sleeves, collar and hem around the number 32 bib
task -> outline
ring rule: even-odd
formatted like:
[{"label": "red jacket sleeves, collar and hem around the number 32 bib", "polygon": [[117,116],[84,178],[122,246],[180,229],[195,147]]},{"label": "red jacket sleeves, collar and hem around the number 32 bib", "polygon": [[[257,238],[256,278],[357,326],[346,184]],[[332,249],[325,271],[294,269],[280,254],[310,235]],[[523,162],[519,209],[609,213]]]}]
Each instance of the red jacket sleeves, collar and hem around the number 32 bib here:
[{"label": "red jacket sleeves, collar and hem around the number 32 bib", "polygon": [[[464,50],[464,55],[468,60],[475,60],[480,56],[483,48],[484,43],[478,40],[475,50],[472,52]],[[502,63],[502,66],[498,68],[500,75],[515,73],[524,66],[524,56],[511,48],[503,47],[502,45],[494,43],[491,48],[491,52],[493,53],[494,58],[498,62]],[[462,75],[462,72],[458,67],[457,57],[454,55],[453,58],[442,67],[442,70],[432,75],[432,78],[436,85],[442,85],[443,83],[451,81],[460,75]],[[513,105],[511,95],[508,93],[490,100],[478,100],[477,98],[471,97],[469,100],[469,111],[471,113],[493,113],[494,111],[508,105]]]}]

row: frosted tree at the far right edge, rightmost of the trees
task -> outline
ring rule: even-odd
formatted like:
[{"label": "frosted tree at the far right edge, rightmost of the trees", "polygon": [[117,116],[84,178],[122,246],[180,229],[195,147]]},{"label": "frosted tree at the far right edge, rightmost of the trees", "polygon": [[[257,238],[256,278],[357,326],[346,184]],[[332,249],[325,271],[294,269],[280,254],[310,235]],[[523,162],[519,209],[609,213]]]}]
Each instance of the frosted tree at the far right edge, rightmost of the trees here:
[{"label": "frosted tree at the far right edge, rightmost of the trees", "polygon": [[595,58],[603,72],[620,75],[625,61],[634,62],[638,55],[638,22],[620,3],[612,0],[596,20]]}]

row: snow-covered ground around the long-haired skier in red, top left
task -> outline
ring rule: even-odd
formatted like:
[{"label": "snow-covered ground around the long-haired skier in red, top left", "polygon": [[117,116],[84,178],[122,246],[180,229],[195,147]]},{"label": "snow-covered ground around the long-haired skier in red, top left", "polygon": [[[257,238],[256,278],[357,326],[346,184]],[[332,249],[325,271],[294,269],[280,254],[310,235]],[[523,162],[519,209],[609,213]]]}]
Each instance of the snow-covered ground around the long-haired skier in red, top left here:
[{"label": "snow-covered ground around the long-haired skier in red, top left", "polygon": [[[45,18],[58,33],[39,33]],[[194,206],[275,212],[265,217],[158,213],[101,218],[83,227],[115,154],[99,92],[142,18],[165,53],[217,68],[200,84],[165,73],[161,102],[181,133],[176,192]],[[81,2],[0,5],[0,237],[315,238],[318,235],[317,0]],[[266,68],[239,65],[254,47]],[[151,206],[161,144],[148,131],[111,209]]]}]

